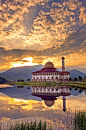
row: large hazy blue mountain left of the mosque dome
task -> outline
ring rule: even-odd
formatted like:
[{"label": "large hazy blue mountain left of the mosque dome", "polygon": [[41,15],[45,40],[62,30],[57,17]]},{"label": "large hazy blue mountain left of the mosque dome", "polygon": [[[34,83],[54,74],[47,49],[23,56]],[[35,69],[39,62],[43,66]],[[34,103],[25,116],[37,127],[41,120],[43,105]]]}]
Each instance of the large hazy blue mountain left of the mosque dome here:
[{"label": "large hazy blue mountain left of the mosque dome", "polygon": [[13,81],[17,81],[18,79],[27,80],[28,78],[31,79],[32,72],[40,70],[41,68],[43,68],[43,65],[11,68],[3,73],[0,73],[0,76]]}]

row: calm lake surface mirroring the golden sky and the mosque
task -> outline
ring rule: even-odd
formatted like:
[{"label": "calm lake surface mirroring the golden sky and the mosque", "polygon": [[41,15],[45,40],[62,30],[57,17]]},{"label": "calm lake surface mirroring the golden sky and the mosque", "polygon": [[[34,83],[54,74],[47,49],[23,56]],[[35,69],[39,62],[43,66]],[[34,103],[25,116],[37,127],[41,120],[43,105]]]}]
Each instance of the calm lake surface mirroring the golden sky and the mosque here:
[{"label": "calm lake surface mirroring the golden sky and the mosque", "polygon": [[[0,85],[1,87],[3,85]],[[29,86],[14,85],[1,88],[0,121],[42,117],[52,124],[64,127],[68,114],[72,118],[75,110],[86,110],[86,90],[56,86],[57,92],[51,87],[52,94],[49,87],[42,87],[40,91],[39,89],[37,87],[37,93],[35,88]]]}]

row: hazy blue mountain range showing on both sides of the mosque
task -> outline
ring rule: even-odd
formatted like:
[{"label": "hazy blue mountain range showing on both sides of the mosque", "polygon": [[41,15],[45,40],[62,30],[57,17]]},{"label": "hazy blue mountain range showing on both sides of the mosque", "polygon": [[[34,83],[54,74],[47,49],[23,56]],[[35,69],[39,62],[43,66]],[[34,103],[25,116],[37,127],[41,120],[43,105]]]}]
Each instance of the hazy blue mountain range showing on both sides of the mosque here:
[{"label": "hazy blue mountain range showing on both sides of the mosque", "polygon": [[[27,80],[29,78],[31,79],[32,72],[38,71],[42,68],[43,68],[43,65],[11,68],[3,73],[0,73],[0,76],[5,77],[8,80],[13,80],[13,81],[17,81],[18,79]],[[70,70],[69,72],[71,73],[70,74],[71,78],[74,78],[74,77],[78,78],[78,76],[84,77],[86,75],[85,73],[76,69]]]}]

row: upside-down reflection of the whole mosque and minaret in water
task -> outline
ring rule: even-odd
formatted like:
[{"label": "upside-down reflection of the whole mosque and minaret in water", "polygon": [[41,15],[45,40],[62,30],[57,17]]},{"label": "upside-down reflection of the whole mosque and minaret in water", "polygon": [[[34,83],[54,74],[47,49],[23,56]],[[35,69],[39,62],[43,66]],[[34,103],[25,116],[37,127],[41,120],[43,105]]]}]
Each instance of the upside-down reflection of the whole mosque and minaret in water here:
[{"label": "upside-down reflection of the whole mosque and minaret in water", "polygon": [[66,111],[66,97],[71,95],[68,87],[32,87],[32,95],[40,97],[44,100],[46,106],[51,107],[54,105],[55,100],[62,96],[63,111]]}]

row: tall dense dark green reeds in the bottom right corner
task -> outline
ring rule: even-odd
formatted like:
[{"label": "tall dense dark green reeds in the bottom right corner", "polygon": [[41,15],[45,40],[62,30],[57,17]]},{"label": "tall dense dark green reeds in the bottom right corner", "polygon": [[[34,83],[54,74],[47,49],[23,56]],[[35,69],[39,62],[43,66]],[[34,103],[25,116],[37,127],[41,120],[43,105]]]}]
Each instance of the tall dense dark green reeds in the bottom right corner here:
[{"label": "tall dense dark green reeds in the bottom right corner", "polygon": [[75,112],[75,130],[86,130],[86,112]]}]

